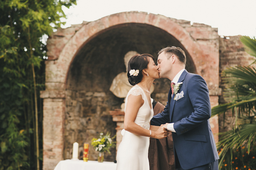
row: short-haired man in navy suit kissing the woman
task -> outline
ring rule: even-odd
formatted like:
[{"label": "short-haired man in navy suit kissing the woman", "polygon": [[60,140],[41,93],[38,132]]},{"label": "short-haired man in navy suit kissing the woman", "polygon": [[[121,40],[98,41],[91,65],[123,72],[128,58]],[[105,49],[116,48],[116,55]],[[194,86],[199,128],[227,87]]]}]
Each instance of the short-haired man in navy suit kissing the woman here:
[{"label": "short-haired man in navy suit kissing the woman", "polygon": [[218,170],[206,82],[186,71],[186,55],[179,47],[161,49],[157,64],[160,78],[172,84],[164,111],[151,119],[151,125],[166,123],[164,128],[172,131],[176,170]]}]

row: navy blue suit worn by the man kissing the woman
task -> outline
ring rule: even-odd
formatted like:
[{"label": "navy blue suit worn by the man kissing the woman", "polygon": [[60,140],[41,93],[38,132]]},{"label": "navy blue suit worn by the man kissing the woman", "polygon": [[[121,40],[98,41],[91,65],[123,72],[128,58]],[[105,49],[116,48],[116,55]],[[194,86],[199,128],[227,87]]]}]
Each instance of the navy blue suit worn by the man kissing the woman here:
[{"label": "navy blue suit worn by the man kissing the woman", "polygon": [[178,93],[183,91],[184,97],[175,101],[170,89],[166,108],[151,119],[151,125],[174,123],[175,163],[179,161],[180,166],[188,170],[214,162],[219,157],[209,123],[211,107],[206,82],[186,70],[178,82],[183,83]]}]

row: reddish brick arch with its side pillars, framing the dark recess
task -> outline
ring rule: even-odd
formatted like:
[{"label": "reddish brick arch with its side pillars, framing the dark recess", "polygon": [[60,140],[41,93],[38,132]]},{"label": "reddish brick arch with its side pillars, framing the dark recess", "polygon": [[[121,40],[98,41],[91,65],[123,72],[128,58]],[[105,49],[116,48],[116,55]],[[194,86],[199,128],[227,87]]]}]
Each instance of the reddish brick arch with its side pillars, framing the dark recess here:
[{"label": "reddish brick arch with its side pillars, framing the dark recess", "polygon": [[[195,72],[207,81],[212,106],[218,104],[219,45],[215,28],[198,23],[191,25],[189,21],[159,14],[122,12],[71,28],[58,29],[47,42],[49,60],[46,61],[46,90],[41,92],[41,98],[44,98],[44,170],[53,169],[63,159],[66,81],[77,53],[87,42],[106,30],[133,23],[154,26],[179,41],[191,57]],[[214,120],[214,125],[218,128],[218,119]]]}]

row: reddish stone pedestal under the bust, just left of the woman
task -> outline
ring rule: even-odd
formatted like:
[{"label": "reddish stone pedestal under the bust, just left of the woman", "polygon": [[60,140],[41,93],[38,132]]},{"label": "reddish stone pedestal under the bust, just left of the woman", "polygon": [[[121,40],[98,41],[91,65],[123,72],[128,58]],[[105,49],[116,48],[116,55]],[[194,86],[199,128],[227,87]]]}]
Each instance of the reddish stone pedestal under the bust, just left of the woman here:
[{"label": "reddish stone pedestal under the bust, just left of the woman", "polygon": [[125,112],[121,109],[115,109],[114,111],[109,111],[109,114],[112,115],[113,121],[116,121],[116,150],[120,142],[122,141],[121,131],[124,128],[124,118]]}]

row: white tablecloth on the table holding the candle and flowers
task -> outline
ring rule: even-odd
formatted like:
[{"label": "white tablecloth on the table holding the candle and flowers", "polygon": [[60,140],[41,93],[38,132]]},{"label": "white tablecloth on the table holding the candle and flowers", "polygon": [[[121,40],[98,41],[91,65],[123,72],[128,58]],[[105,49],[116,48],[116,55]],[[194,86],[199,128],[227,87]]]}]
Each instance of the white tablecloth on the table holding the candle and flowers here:
[{"label": "white tablecloth on the table holding the candle and flowers", "polygon": [[114,162],[98,162],[67,159],[59,161],[54,170],[116,170]]}]

